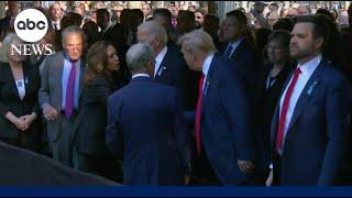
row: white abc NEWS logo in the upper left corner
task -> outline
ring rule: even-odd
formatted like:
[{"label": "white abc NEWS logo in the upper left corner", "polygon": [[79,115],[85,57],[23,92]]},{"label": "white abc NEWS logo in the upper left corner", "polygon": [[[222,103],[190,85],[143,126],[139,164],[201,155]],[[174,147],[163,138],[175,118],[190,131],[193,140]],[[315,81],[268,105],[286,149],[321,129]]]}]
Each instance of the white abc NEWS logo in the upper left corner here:
[{"label": "white abc NEWS logo in the upper left corner", "polygon": [[14,31],[22,41],[28,43],[11,45],[12,55],[14,52],[20,55],[51,55],[52,44],[35,44],[45,36],[47,29],[47,19],[41,11],[26,9],[20,12],[14,20]]}]

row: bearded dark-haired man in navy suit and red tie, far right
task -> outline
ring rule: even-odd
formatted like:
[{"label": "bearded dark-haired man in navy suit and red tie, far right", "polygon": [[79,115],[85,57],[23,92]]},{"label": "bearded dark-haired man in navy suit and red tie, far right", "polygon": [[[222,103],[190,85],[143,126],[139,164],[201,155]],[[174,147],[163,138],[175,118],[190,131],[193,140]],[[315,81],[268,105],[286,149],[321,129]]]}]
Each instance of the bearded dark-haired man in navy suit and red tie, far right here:
[{"label": "bearded dark-haired man in navy suit and red tie, far right", "polygon": [[327,30],[316,16],[301,16],[292,32],[290,75],[272,122],[276,185],[339,185],[350,143],[351,88],[321,52]]}]

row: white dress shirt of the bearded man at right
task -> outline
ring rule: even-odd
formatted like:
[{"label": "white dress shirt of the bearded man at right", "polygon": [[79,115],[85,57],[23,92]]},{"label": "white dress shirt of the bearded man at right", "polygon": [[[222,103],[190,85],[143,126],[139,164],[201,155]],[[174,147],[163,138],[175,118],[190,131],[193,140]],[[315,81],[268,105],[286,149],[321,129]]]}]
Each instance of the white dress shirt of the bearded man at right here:
[{"label": "white dress shirt of the bearded man at right", "polygon": [[[311,61],[305,63],[304,65],[299,65],[298,67],[300,68],[301,74],[298,76],[297,82],[295,85],[293,95],[290,97],[289,103],[288,103],[288,108],[287,108],[287,114],[286,114],[286,120],[285,120],[285,127],[284,127],[284,139],[283,139],[283,146],[284,147],[284,143],[285,143],[285,136],[287,134],[287,128],[289,125],[289,122],[292,120],[292,117],[294,114],[294,110],[296,108],[297,101],[299,96],[301,95],[301,91],[304,90],[305,86],[307,85],[309,78],[311,77],[311,75],[315,73],[315,70],[317,69],[318,65],[321,62],[321,55],[316,56],[315,58],[312,58]],[[289,84],[287,84],[284,94],[282,95],[282,98],[279,100],[279,117],[282,114],[282,108],[283,108],[283,103],[284,103],[284,98],[286,96],[287,92],[287,88],[289,87],[290,82],[293,80],[289,80]],[[279,153],[282,153],[282,151],[279,151]]]}]

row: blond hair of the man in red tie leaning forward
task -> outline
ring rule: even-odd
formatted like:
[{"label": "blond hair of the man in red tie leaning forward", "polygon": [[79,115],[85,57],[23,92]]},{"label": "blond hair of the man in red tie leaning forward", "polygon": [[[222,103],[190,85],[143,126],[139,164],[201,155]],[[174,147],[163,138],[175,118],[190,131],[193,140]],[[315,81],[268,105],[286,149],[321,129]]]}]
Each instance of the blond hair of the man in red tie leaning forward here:
[{"label": "blond hair of the man in red tie leaning forward", "polygon": [[208,55],[217,51],[211,36],[202,30],[195,30],[183,35],[178,40],[178,44],[190,54],[202,53]]}]

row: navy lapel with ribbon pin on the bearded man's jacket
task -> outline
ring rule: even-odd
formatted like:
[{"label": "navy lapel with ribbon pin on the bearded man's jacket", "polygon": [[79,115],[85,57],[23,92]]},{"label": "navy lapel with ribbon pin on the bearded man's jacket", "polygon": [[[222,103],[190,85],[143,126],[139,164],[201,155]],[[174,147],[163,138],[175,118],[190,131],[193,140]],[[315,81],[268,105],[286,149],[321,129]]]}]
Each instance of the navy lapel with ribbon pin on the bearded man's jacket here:
[{"label": "navy lapel with ribbon pin on the bearded man's jacket", "polygon": [[300,94],[300,96],[298,98],[298,101],[296,103],[296,107],[295,107],[295,110],[294,110],[294,114],[293,114],[293,117],[290,119],[287,132],[289,132],[289,129],[297,121],[298,117],[300,116],[300,113],[302,112],[305,107],[308,105],[308,102],[309,102],[310,98],[312,97],[315,90],[319,86],[320,76],[321,76],[322,72],[323,72],[323,65],[322,65],[322,61],[321,61],[321,63],[318,65],[318,67],[315,70],[315,73],[309,78],[308,82],[306,84],[302,92]]}]

